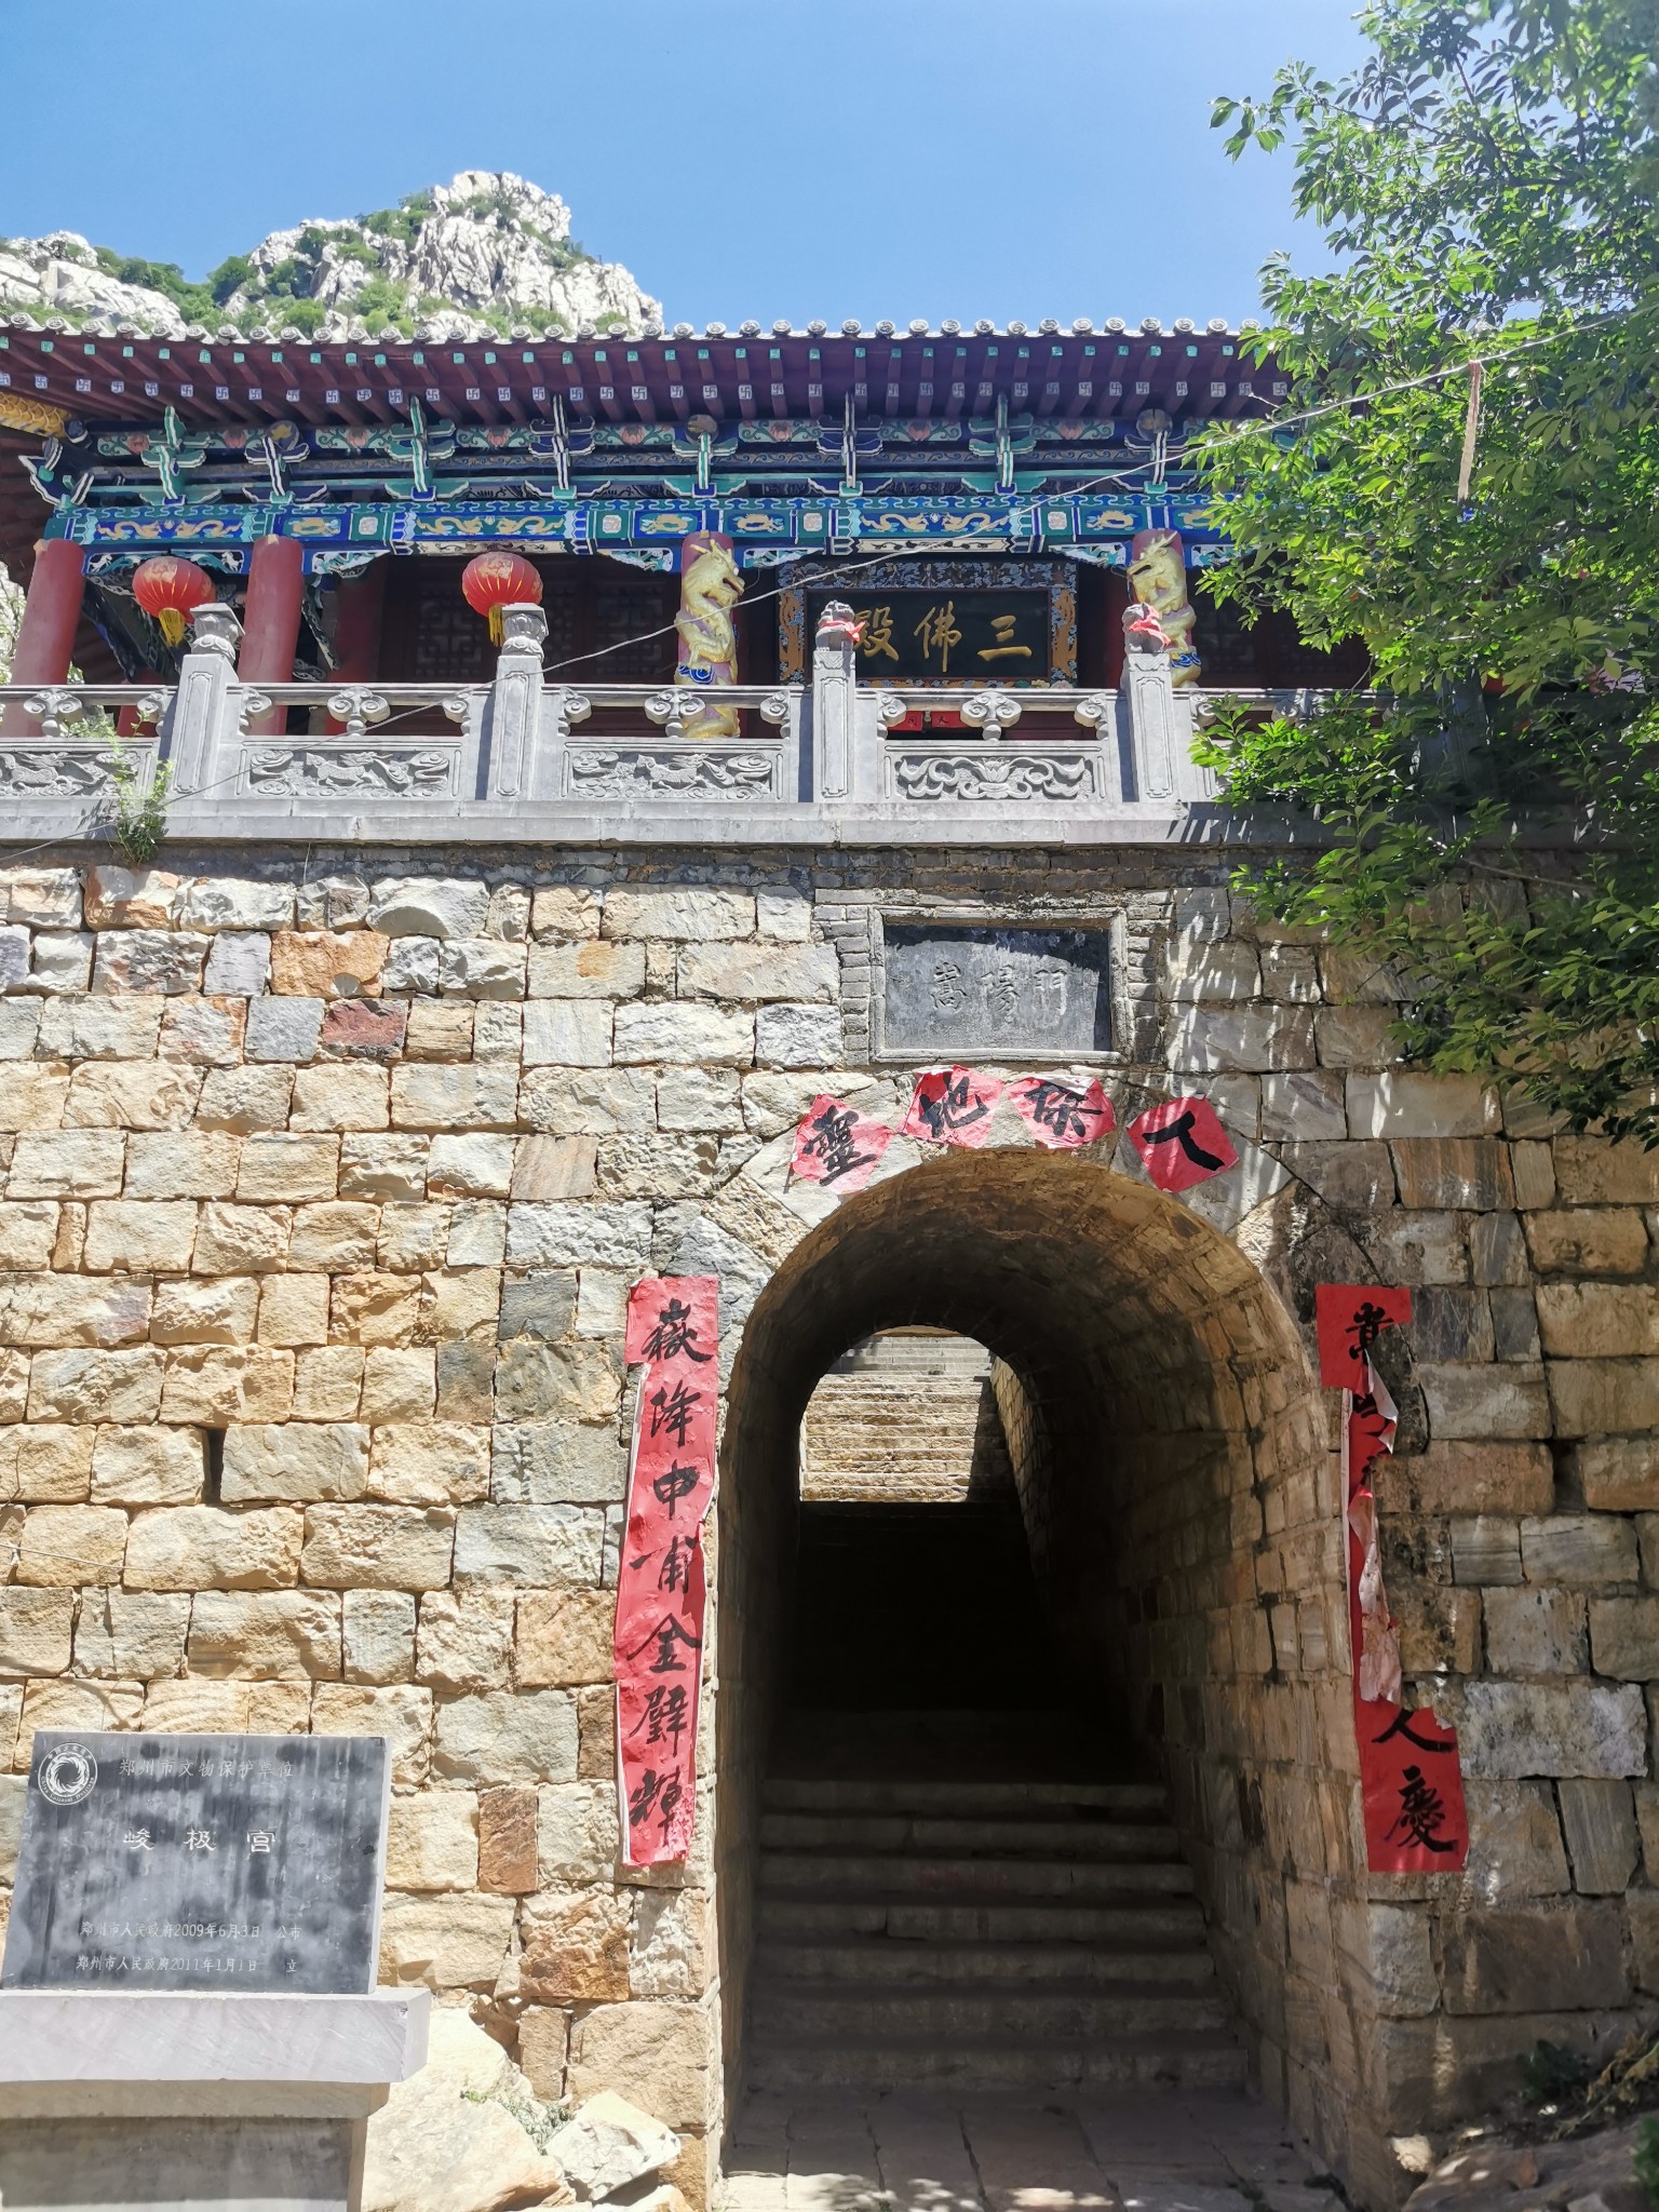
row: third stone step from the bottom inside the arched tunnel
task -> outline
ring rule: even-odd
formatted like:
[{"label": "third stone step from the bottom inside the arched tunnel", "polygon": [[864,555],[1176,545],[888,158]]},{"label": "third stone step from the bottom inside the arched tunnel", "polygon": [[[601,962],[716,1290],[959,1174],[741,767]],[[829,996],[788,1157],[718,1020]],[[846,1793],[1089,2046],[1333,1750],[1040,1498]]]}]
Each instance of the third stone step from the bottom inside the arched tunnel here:
[{"label": "third stone step from the bottom inside the arched tunnel", "polygon": [[[1137,1916],[1152,1918],[1152,1916]],[[816,1982],[852,1989],[909,1989],[918,1984],[1037,1984],[1077,1982],[1091,1989],[1214,1986],[1214,1960],[1203,1944],[1164,1931],[1126,1931],[1115,1944],[1060,1940],[995,1940],[825,1931],[832,1940],[783,1933],[761,1918],[754,1973],[761,1982]],[[1144,1938],[1135,1942],[1133,1938]]]}]

